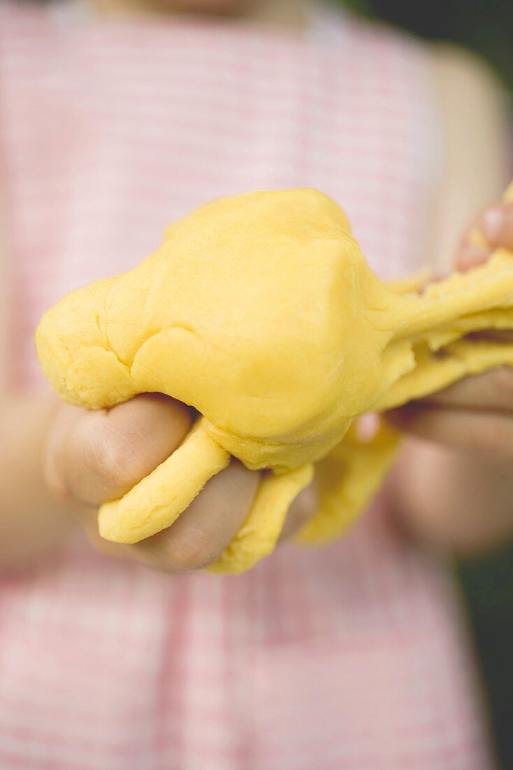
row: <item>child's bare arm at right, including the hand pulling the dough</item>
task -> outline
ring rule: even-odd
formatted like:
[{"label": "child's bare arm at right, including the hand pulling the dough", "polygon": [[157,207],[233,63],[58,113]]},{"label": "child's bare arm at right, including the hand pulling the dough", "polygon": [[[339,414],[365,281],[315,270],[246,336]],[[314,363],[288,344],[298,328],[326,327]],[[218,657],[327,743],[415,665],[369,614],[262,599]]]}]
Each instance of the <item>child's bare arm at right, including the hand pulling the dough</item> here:
[{"label": "child's bare arm at right, including the hand pulling the dough", "polygon": [[[498,199],[508,181],[505,120],[495,80],[458,52],[435,63],[447,162],[435,211],[435,270],[451,268],[457,233],[468,213]],[[442,203],[443,202],[443,203]],[[513,247],[511,206],[496,245]],[[488,228],[488,229],[487,229]],[[461,243],[457,266],[485,259]],[[513,372],[457,383],[438,397],[393,416],[411,438],[391,477],[395,506],[408,530],[460,554],[485,550],[513,534]]]}]

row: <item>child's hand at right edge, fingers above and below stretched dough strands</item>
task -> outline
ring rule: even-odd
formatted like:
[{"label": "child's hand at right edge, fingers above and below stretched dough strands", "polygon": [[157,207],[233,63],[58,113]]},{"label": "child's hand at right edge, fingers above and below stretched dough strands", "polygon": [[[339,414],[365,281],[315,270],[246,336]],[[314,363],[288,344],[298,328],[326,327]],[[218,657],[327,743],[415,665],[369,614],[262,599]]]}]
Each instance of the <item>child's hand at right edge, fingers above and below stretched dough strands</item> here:
[{"label": "child's hand at right edge, fingers above and below stretched dough strands", "polygon": [[[469,243],[472,229],[485,235],[489,249]],[[461,241],[456,267],[466,270],[485,262],[497,247],[513,249],[513,203],[495,203],[477,217]],[[493,334],[511,339],[510,332]],[[490,459],[513,460],[513,369],[509,367],[467,377],[389,414],[409,434],[446,447],[474,450]]]}]

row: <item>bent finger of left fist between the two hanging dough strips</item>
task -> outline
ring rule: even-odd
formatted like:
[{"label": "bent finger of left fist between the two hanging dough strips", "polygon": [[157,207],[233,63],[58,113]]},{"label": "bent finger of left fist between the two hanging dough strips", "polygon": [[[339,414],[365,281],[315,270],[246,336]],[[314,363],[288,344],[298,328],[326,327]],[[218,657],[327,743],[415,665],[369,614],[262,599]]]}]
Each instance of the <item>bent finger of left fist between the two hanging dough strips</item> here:
[{"label": "bent finger of left fist between the two hanging dough strips", "polygon": [[168,529],[127,546],[148,567],[171,573],[213,564],[245,521],[260,474],[237,461],[213,477]]}]

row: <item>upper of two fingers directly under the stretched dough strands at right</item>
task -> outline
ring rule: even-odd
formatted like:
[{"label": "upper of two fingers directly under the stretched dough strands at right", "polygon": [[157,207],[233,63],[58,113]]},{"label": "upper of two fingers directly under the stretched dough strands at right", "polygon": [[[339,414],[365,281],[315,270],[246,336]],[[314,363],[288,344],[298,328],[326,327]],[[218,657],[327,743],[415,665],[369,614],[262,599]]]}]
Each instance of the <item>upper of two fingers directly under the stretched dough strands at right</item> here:
[{"label": "upper of two fingers directly under the stretched dough strands at right", "polygon": [[490,411],[513,416],[513,369],[500,369],[465,377],[422,403],[453,409]]}]

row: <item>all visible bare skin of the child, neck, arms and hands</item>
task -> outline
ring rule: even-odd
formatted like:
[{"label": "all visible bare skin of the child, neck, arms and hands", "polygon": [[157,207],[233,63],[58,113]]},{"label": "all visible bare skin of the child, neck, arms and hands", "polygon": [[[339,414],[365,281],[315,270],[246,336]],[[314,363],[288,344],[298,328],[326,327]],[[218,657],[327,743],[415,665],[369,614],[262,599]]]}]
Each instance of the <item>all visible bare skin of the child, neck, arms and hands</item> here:
[{"label": "all visible bare skin of the child, neck, arms and hands", "polygon": [[[102,13],[206,12],[291,30],[305,22],[301,0],[95,0]],[[488,251],[461,238],[471,213],[498,199],[504,176],[505,121],[498,85],[484,65],[453,49],[432,53],[435,96],[447,148],[426,258],[437,273],[467,269]],[[471,126],[471,129],[469,129]],[[513,248],[513,206],[491,203],[479,225],[491,246]],[[419,244],[419,248],[423,248]],[[0,291],[8,300],[8,249]],[[15,393],[10,382],[8,325],[0,330],[0,567],[32,564],[76,522],[96,547],[172,574],[211,564],[242,524],[258,474],[233,462],[210,481],[169,530],[132,546],[98,537],[96,510],[165,460],[187,433],[182,404],[158,395],[87,413],[51,395]],[[513,371],[457,383],[397,410],[390,419],[408,434],[387,494],[398,524],[430,547],[472,554],[513,534]],[[315,507],[305,490],[288,514],[282,539]]]}]

